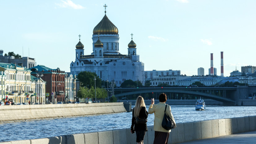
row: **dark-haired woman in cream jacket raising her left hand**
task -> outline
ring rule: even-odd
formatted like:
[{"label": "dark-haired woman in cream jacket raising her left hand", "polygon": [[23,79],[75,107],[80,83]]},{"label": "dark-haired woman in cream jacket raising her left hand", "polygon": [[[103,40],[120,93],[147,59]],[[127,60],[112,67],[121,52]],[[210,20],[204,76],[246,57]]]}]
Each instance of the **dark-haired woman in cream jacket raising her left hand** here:
[{"label": "dark-haired woman in cream jacket raising her left hand", "polygon": [[[162,121],[164,116],[164,110],[165,110],[165,102],[167,100],[166,94],[162,93],[159,95],[159,102],[158,104],[154,105],[154,98],[151,98],[151,105],[149,106],[149,114],[154,113],[155,119],[154,119],[154,131],[155,131],[155,139],[154,144],[167,144],[169,139],[169,134],[171,130],[166,130],[162,127]],[[171,107],[168,105],[166,108],[165,113],[167,116],[171,118],[173,121],[175,127],[176,123],[171,113]]]}]

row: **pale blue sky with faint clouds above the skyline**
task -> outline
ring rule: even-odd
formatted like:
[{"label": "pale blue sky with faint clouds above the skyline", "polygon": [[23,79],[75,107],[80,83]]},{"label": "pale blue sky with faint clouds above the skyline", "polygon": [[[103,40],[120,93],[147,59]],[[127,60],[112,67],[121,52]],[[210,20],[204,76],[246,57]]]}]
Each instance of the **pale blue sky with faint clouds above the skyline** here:
[{"label": "pale blue sky with faint clouds above the skyline", "polygon": [[213,53],[220,75],[221,51],[224,76],[256,66],[253,0],[1,1],[0,49],[70,72],[79,34],[85,54],[92,52],[93,28],[105,14],[105,3],[106,15],[119,30],[119,52],[128,53],[133,33],[145,70],[197,75],[203,67],[208,74]]}]

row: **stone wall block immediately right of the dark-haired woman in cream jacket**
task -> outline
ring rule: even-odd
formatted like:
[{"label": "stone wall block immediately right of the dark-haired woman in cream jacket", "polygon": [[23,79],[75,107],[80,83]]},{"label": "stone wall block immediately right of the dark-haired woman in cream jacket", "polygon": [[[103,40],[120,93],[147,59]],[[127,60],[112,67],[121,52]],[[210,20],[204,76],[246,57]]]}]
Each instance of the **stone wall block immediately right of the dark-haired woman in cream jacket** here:
[{"label": "stone wall block immediately right of the dark-haired woman in cream jacket", "polygon": [[171,142],[180,143],[185,141],[184,137],[184,123],[176,124],[175,129],[171,129]]}]

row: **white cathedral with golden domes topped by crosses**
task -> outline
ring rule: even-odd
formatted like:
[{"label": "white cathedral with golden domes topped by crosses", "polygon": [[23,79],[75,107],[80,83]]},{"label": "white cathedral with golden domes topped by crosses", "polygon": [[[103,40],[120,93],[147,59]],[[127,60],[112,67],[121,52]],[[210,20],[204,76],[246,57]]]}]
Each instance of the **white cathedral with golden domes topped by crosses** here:
[{"label": "white cathedral with golden domes topped by crosses", "polygon": [[95,72],[104,81],[115,81],[116,86],[129,79],[143,84],[144,63],[140,62],[135,42],[131,40],[128,44],[127,55],[119,53],[118,29],[106,16],[106,5],[104,7],[105,15],[93,29],[91,55],[84,55],[85,49],[79,35],[76,60],[70,64],[71,74]]}]

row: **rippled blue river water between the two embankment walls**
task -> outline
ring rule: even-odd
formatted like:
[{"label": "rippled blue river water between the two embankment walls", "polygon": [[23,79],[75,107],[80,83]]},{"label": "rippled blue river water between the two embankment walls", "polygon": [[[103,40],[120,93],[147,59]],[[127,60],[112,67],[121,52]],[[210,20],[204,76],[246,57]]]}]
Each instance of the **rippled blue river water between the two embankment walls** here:
[{"label": "rippled blue river water between the two embankment walls", "polygon": [[[171,112],[176,123],[183,123],[256,116],[256,107],[206,106],[205,111],[195,111],[195,106],[171,106]],[[0,142],[130,128],[131,120],[132,112],[124,112],[98,116],[5,122],[0,123]],[[154,114],[149,114],[147,125],[154,125]]]}]

